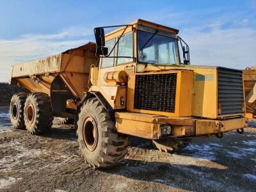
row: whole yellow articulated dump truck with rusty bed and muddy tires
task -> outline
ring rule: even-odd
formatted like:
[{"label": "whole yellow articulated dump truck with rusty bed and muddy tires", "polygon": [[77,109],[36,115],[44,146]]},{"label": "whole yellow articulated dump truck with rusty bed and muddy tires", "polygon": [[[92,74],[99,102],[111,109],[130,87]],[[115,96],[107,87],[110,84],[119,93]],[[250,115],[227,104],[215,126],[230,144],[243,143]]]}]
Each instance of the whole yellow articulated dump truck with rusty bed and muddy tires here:
[{"label": "whole yellow articulated dump truck with rusty bed and muddy tires", "polygon": [[74,119],[93,168],[120,163],[129,136],[177,152],[194,138],[243,133],[241,70],[190,65],[179,30],[145,20],[94,33],[96,44],[12,67],[10,83],[31,91],[12,97],[15,129],[42,134],[54,116]]}]

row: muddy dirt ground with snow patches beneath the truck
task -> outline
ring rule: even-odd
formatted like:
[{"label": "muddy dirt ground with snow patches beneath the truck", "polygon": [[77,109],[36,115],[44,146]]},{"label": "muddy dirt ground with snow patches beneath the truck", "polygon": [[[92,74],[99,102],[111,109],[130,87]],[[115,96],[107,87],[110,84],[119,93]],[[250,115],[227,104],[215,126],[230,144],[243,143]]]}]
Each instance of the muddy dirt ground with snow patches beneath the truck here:
[{"label": "muddy dirt ground with snow patches beneath the truck", "polygon": [[84,164],[71,125],[51,134],[15,131],[0,107],[0,191],[255,191],[256,129],[195,140],[180,154],[131,138],[125,161],[108,170]]}]

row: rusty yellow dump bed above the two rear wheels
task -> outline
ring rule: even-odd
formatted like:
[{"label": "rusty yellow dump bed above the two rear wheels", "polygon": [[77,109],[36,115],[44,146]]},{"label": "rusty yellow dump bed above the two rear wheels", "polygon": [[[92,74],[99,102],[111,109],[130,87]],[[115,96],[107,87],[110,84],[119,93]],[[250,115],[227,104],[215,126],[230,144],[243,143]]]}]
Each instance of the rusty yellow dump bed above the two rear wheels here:
[{"label": "rusty yellow dump bed above the two rear wheels", "polygon": [[[75,49],[12,67],[10,83],[51,95],[53,81],[62,81],[74,97],[88,91],[90,67],[97,62],[92,42]],[[54,90],[52,90],[54,91]]]}]

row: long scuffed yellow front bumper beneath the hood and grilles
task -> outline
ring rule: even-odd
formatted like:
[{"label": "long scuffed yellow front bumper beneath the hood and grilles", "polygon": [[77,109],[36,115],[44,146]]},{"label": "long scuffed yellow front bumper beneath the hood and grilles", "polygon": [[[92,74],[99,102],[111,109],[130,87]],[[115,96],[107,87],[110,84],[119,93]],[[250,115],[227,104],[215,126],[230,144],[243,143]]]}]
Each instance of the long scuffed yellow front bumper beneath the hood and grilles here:
[{"label": "long scuffed yellow front bumper beneath the hood and grilles", "polygon": [[[172,117],[144,113],[116,112],[116,130],[120,133],[157,140],[163,136],[188,137],[211,135],[242,129],[248,126],[248,118],[209,120],[191,117]],[[161,125],[172,126],[170,135],[163,135]]]}]

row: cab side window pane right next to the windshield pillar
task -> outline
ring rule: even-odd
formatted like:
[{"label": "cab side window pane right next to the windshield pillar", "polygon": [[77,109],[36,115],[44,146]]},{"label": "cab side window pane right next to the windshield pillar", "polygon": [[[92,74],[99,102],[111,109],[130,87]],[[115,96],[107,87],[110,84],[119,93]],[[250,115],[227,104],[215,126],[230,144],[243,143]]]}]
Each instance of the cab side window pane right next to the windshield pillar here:
[{"label": "cab side window pane right next to the windshield pillar", "polygon": [[[133,42],[132,33],[122,36],[118,42],[118,57],[120,56],[133,56]],[[117,58],[117,65],[122,63],[132,62],[133,58]]]}]

